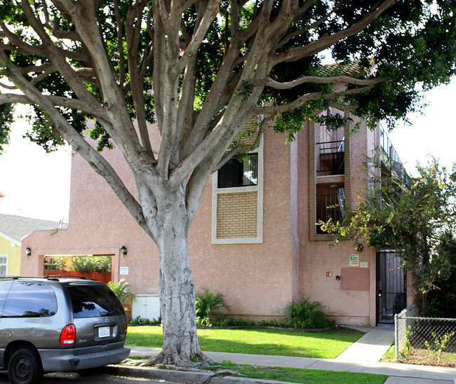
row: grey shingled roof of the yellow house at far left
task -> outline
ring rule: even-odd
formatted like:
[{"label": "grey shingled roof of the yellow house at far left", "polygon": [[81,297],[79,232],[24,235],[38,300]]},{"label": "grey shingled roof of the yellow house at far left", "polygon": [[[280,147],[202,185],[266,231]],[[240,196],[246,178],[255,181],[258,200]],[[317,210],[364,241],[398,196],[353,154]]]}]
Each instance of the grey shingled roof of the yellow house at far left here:
[{"label": "grey shingled roof of the yellow house at far left", "polygon": [[58,221],[30,219],[29,217],[11,216],[0,214],[0,233],[20,242],[22,238],[36,229],[58,228]]}]

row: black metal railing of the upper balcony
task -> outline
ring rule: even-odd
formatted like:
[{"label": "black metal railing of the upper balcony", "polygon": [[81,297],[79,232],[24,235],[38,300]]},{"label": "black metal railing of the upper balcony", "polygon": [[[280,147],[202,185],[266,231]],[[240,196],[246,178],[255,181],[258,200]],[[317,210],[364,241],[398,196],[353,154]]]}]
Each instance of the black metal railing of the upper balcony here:
[{"label": "black metal railing of the upper balcony", "polygon": [[344,174],[345,165],[345,142],[316,143],[318,159],[316,162],[317,176],[328,176],[331,174]]}]

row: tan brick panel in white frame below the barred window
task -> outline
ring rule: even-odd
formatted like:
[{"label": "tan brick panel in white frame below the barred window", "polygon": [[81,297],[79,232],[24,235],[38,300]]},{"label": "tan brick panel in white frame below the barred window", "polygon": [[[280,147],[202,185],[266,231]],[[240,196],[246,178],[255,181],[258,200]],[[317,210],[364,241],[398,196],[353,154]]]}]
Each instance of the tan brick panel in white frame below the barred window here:
[{"label": "tan brick panel in white frame below the barred window", "polygon": [[217,195],[217,238],[256,238],[258,193]]}]

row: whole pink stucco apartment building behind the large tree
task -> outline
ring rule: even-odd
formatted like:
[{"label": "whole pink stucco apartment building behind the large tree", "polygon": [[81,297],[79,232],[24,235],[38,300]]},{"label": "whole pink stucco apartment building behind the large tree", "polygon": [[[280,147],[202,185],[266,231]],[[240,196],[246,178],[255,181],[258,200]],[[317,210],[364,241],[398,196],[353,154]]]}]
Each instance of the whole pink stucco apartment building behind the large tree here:
[{"label": "whole pink stucco apartment building behind the large tree", "polygon": [[[375,148],[389,156],[394,151],[380,126],[361,125],[349,134],[351,128],[333,131],[309,122],[292,144],[267,130],[250,158],[211,177],[189,233],[197,292],[222,292],[233,317],[279,317],[288,302],[305,296],[323,303],[339,324],[392,320],[405,305],[395,258],[351,242],[330,248],[330,236],[315,225],[330,215],[337,219],[340,207],[356,198],[366,155]],[[119,152],[104,156],[134,191]],[[22,241],[26,247],[32,254],[22,252],[23,275],[42,275],[53,256],[111,255],[112,280],[123,277],[136,295],[133,317],[159,316],[156,246],[79,155],[72,160],[68,228],[36,231]]]}]

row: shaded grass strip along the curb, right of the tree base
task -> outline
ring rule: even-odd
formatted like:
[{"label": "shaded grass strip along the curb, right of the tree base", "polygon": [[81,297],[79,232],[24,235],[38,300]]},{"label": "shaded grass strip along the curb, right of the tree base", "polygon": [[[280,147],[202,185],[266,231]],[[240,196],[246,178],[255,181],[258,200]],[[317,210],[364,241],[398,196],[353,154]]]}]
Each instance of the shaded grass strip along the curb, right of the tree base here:
[{"label": "shaded grass strip along the curb, right of the tree base", "polygon": [[223,362],[208,367],[211,371],[217,369],[230,369],[246,378],[260,378],[264,380],[288,381],[290,383],[309,384],[381,384],[387,380],[386,375],[374,375],[370,373],[351,373],[335,371],[317,371],[311,369],[281,368],[268,366],[252,366],[247,364],[233,364]]}]

